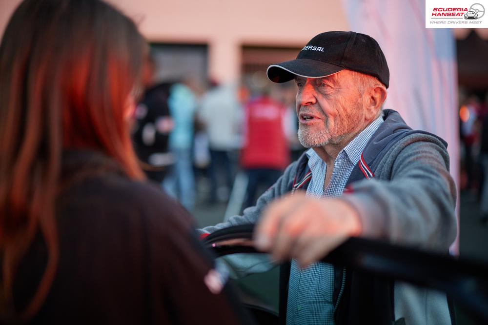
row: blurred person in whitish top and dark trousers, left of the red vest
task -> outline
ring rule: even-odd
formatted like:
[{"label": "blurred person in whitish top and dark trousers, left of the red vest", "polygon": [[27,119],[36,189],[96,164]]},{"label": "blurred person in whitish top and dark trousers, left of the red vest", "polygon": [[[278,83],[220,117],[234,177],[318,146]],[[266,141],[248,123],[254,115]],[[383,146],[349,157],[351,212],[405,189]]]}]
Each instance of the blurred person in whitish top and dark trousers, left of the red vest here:
[{"label": "blurred person in whitish top and dark trousers, left of the red vest", "polygon": [[[233,184],[233,166],[229,152],[238,147],[242,118],[237,92],[231,85],[210,81],[210,89],[203,95],[198,112],[199,121],[208,137],[210,151],[209,202],[225,201]],[[219,187],[219,176],[224,176],[225,187]],[[222,191],[221,189],[224,189]],[[225,193],[225,195],[218,195]]]}]

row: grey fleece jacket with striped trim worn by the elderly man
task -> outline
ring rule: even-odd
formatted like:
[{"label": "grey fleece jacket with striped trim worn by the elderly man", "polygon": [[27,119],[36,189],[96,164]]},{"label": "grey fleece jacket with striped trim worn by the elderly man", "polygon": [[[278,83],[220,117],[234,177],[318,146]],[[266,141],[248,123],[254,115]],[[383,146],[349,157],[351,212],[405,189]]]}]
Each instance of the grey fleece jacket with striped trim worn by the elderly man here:
[{"label": "grey fleece jacket with striped trim worn by the elderly man", "polygon": [[[430,133],[411,130],[393,110],[384,111],[384,120],[363,153],[374,178],[348,182],[352,191],[341,199],[358,211],[363,237],[447,252],[457,232],[456,188],[449,174],[447,144]],[[256,223],[269,202],[290,192],[300,172],[297,169],[303,165],[300,160],[291,163],[256,206],[246,208],[242,216],[206,227],[203,232]],[[356,167],[349,181],[358,179],[354,177],[359,170]],[[242,262],[238,268],[246,273],[267,267],[258,261]],[[450,324],[444,294],[403,283],[395,283],[394,317],[404,317],[407,324]]]}]

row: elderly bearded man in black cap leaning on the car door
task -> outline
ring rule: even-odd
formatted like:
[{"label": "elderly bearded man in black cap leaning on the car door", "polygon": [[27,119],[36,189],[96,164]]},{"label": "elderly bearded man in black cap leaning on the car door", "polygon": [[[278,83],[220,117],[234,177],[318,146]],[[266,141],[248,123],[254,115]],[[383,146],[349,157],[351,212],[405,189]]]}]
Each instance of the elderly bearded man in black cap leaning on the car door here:
[{"label": "elderly bearded man in black cap leaning on the car door", "polygon": [[447,143],[382,110],[389,71],[378,43],[322,33],[267,76],[296,82],[298,135],[310,149],[255,207],[204,230],[258,223],[257,247],[292,259],[287,324],[450,324],[443,294],[312,263],[350,236],[444,252],[456,236]]}]

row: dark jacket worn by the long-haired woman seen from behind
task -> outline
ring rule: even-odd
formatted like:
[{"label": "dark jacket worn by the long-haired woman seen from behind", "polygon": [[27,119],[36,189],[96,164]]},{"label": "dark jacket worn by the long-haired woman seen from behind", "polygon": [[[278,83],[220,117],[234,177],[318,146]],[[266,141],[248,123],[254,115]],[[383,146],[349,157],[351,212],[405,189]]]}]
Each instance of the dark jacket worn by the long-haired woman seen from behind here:
[{"label": "dark jacket worn by the long-haired woman seen from behind", "polygon": [[[56,217],[59,265],[33,324],[248,324],[227,285],[214,294],[205,284],[214,262],[187,211],[113,160],[66,152]],[[15,279],[18,310],[45,262],[38,235]]]}]

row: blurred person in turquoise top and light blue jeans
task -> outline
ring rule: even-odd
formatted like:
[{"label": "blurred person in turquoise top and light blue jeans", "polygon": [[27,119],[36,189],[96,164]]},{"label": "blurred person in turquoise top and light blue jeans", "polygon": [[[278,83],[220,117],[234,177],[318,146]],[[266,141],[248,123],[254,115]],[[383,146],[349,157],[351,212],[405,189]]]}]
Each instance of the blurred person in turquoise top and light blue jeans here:
[{"label": "blurred person in turquoise top and light blue jeans", "polygon": [[168,98],[169,113],[173,118],[173,129],[169,134],[169,148],[174,164],[163,181],[168,194],[178,198],[188,210],[195,204],[195,175],[193,173],[193,136],[197,97],[192,79],[175,83]]}]

